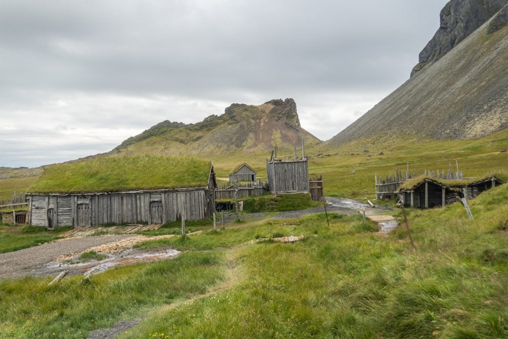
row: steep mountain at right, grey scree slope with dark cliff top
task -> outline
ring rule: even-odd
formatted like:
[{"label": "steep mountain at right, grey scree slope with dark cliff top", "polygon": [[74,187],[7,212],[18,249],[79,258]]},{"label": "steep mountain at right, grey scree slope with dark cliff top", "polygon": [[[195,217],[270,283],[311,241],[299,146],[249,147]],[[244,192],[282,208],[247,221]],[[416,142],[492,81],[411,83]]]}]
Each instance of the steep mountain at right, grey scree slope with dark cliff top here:
[{"label": "steep mountain at right, grey scree slope with dark cliff top", "polygon": [[[478,11],[457,12],[458,8],[494,11],[503,2],[452,0],[441,11],[441,26],[444,22],[444,26],[456,27],[450,32],[459,32],[458,27],[470,27],[469,20],[477,22],[472,14]],[[443,13],[448,12],[450,16],[444,15],[443,21]],[[508,5],[504,5],[460,43],[456,40],[452,44],[454,35],[440,34],[439,28],[422,51],[429,55],[428,63],[328,144],[401,132],[416,137],[471,139],[508,128],[507,23]]]}]

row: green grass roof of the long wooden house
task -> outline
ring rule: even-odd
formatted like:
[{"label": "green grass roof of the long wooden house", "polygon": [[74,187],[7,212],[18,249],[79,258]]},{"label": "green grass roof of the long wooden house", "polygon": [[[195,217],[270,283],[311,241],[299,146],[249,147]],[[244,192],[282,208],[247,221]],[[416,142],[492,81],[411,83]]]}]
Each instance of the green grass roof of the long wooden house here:
[{"label": "green grass roof of the long wooden house", "polygon": [[29,193],[92,193],[206,187],[211,163],[192,158],[114,157],[47,167]]}]

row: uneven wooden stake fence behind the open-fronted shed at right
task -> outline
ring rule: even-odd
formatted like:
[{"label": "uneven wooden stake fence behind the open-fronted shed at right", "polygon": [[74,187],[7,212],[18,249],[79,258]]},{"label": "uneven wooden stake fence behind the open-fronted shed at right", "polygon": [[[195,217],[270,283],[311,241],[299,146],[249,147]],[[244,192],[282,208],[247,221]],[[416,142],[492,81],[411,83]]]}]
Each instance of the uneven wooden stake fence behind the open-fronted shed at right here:
[{"label": "uneven wooden stake fence behind the open-fronted shed at right", "polygon": [[409,172],[409,165],[406,168],[405,173],[401,170],[395,168],[395,174],[390,173],[390,175],[386,177],[377,177],[377,174],[374,176],[375,180],[375,192],[376,199],[383,198],[394,198],[396,196],[395,192],[399,190],[399,187],[412,178],[415,178],[419,175],[424,175],[430,178],[443,179],[443,180],[453,180],[453,179],[462,179],[464,177],[463,173],[459,171],[459,164],[457,163],[457,171],[452,170],[452,164],[448,168],[448,171],[444,170],[425,170],[423,173],[418,174],[417,171]]}]

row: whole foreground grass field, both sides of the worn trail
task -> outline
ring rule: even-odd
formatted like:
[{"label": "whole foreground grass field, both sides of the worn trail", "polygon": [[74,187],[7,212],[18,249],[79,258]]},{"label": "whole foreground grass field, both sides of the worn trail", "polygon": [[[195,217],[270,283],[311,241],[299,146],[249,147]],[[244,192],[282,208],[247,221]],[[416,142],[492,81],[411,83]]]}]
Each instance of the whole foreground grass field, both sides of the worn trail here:
[{"label": "whole foreground grass field, both sides of the worn trail", "polygon": [[[404,228],[378,235],[360,215],[196,225],[140,245],[184,250],[176,259],[0,282],[0,332],[76,337],[142,317],[121,337],[506,337],[508,185],[470,206],[473,221],[460,204],[408,209],[416,252]],[[269,240],[280,235],[306,237]]]}]

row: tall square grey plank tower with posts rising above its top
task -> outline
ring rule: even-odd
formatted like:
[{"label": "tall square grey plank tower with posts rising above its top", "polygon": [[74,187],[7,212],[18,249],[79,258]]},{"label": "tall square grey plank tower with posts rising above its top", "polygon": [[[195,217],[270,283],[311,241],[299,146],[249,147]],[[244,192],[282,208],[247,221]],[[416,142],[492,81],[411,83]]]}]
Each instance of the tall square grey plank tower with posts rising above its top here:
[{"label": "tall square grey plank tower with posts rising above its top", "polygon": [[280,161],[273,158],[266,161],[266,171],[272,193],[309,192],[307,158],[291,161]]}]

